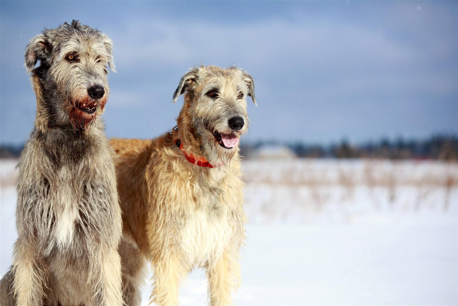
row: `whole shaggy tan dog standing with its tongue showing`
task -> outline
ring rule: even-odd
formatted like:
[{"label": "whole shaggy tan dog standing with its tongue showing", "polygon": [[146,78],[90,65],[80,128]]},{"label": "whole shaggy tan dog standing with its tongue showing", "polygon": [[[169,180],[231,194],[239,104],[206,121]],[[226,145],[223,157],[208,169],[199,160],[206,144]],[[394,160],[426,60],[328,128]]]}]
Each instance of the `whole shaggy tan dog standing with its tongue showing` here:
[{"label": "whole shaggy tan dog standing with its tongue showing", "polygon": [[[179,304],[180,279],[196,266],[206,269],[212,305],[231,304],[239,283],[246,218],[237,143],[247,130],[240,123],[248,121],[246,96],[255,102],[254,82],[238,68],[194,67],[181,78],[173,101],[183,93],[170,133],[111,140],[124,213],[120,255],[127,305],[140,305],[147,261],[154,269],[151,300],[158,305]],[[213,167],[188,161],[177,139],[188,156]]]}]

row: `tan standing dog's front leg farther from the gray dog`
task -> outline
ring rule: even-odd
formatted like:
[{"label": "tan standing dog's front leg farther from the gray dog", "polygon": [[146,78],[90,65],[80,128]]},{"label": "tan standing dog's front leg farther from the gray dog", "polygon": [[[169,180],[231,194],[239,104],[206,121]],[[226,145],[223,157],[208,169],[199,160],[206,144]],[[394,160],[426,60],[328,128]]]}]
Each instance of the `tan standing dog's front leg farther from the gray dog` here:
[{"label": "tan standing dog's front leg farther from the gray dog", "polygon": [[240,280],[240,265],[227,253],[207,265],[210,305],[232,305],[231,291]]}]

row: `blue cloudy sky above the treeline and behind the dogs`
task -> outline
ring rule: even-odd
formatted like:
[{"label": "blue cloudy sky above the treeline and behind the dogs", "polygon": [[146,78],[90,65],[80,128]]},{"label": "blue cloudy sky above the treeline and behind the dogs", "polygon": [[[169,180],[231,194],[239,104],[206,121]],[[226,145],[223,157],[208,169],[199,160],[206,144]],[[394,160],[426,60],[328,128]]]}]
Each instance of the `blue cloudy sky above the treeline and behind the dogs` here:
[{"label": "blue cloudy sky above the treeline and behind the dogs", "polygon": [[109,137],[174,126],[181,75],[204,63],[255,78],[246,141],[328,144],[458,132],[457,1],[1,1],[0,142],[24,142],[28,39],[79,19],[114,42]]}]

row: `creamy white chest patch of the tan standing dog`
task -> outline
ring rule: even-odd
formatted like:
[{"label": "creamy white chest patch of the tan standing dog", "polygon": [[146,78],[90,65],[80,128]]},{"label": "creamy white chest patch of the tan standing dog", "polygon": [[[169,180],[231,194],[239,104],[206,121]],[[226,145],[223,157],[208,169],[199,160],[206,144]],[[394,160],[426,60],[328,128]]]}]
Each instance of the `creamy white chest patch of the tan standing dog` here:
[{"label": "creamy white chest patch of the tan standing dog", "polygon": [[225,211],[215,214],[201,207],[187,214],[179,236],[180,249],[189,264],[204,265],[222,255],[232,236],[232,226]]}]

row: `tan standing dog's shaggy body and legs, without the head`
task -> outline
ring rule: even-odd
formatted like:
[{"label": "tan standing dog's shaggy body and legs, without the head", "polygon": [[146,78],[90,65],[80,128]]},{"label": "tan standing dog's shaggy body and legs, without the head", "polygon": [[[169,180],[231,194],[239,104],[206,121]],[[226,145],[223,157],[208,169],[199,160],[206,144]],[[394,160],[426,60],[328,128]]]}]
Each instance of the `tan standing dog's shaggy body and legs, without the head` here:
[{"label": "tan standing dog's shaggy body and legs, without the head", "polygon": [[128,305],[139,303],[135,284],[143,277],[144,256],[153,261],[157,304],[178,303],[180,278],[195,266],[207,269],[212,304],[230,303],[230,291],[239,282],[245,212],[238,149],[223,167],[199,167],[175,144],[184,134],[173,130],[153,140],[111,140],[118,154]]}]

